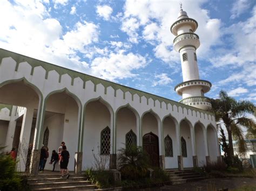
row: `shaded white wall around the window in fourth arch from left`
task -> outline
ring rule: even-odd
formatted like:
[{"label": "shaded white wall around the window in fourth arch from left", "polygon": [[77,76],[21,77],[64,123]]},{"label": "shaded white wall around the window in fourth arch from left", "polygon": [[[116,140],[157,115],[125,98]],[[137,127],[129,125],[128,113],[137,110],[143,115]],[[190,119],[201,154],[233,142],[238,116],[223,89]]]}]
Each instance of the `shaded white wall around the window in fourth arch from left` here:
[{"label": "shaded white wall around the window in fourth arch from left", "polygon": [[[116,127],[117,127],[117,151],[120,148],[125,147],[125,135],[127,132],[132,130],[135,134],[137,134],[136,127],[136,116],[133,111],[128,108],[121,108],[117,113],[116,119]],[[137,143],[138,143],[137,136]]]}]

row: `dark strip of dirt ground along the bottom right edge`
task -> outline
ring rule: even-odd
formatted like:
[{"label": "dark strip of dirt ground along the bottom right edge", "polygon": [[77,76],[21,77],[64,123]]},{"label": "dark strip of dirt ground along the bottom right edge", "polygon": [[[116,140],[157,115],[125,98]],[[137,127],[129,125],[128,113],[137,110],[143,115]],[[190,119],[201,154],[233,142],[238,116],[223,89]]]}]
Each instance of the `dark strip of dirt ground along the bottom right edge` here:
[{"label": "dark strip of dirt ground along the bottom right edge", "polygon": [[[212,191],[223,188],[228,190],[237,189],[242,186],[256,186],[256,179],[254,178],[218,178],[206,179],[197,182],[187,182],[180,185],[165,185],[158,188],[140,189],[140,191],[151,190],[177,190],[177,191]],[[253,190],[254,191],[254,190]]]}]

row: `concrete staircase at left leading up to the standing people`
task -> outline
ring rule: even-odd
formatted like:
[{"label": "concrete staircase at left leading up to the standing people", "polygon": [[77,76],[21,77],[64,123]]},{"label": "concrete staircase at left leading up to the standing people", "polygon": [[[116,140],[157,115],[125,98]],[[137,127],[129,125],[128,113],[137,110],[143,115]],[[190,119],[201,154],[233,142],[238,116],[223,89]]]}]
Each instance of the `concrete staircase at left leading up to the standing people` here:
[{"label": "concrete staircase at left leading up to the standing people", "polygon": [[31,190],[87,190],[97,188],[83,174],[70,174],[69,179],[60,178],[60,174],[39,174],[28,177]]}]

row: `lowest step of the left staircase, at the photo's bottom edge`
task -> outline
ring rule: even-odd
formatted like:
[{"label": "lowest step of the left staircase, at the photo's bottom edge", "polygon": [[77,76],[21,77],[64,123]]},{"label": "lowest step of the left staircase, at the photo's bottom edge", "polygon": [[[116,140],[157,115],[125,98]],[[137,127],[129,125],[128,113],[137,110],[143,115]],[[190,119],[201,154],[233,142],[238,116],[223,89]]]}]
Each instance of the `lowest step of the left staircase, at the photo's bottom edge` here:
[{"label": "lowest step of the left staircase, at the photo's bottom edge", "polygon": [[77,186],[58,186],[58,187],[47,187],[47,188],[36,188],[32,190],[94,190],[97,187],[95,185],[77,185]]}]

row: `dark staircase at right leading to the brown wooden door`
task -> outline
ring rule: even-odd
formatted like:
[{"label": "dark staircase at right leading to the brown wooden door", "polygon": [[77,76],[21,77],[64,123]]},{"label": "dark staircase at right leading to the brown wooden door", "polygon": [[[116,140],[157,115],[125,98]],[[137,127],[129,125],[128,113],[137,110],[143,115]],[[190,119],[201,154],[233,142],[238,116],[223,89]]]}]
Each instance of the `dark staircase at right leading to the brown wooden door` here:
[{"label": "dark staircase at right leading to the brown wooden door", "polygon": [[203,175],[195,173],[192,169],[186,169],[184,171],[166,169],[166,173],[169,174],[172,185],[205,179]]}]

